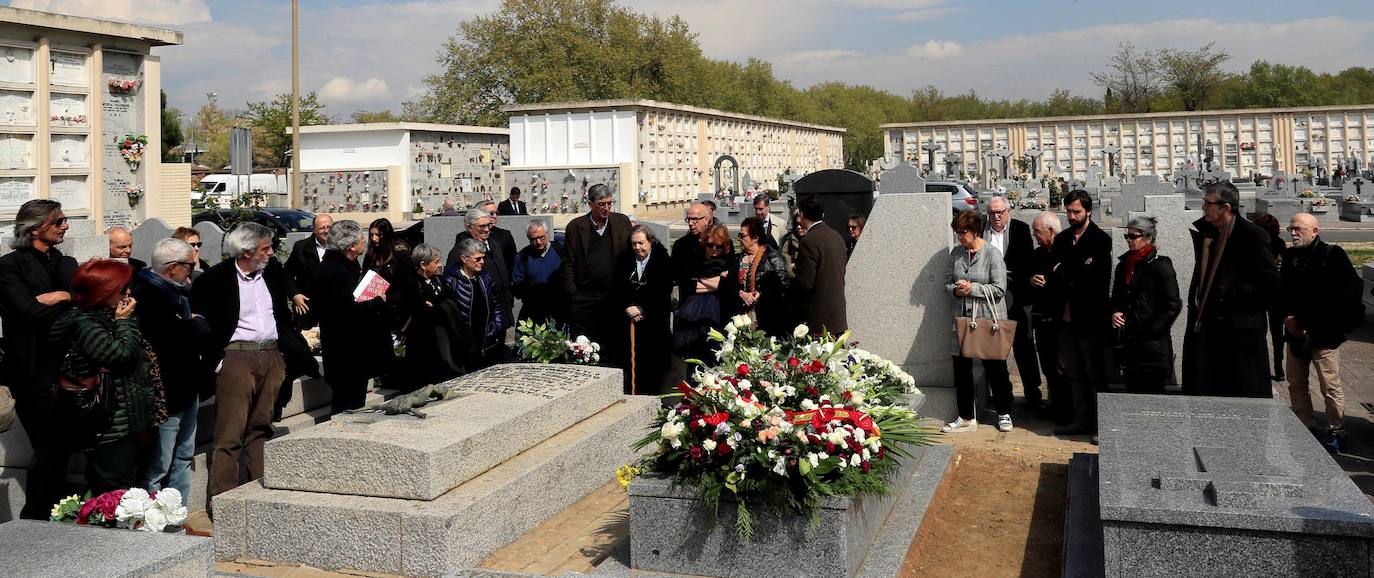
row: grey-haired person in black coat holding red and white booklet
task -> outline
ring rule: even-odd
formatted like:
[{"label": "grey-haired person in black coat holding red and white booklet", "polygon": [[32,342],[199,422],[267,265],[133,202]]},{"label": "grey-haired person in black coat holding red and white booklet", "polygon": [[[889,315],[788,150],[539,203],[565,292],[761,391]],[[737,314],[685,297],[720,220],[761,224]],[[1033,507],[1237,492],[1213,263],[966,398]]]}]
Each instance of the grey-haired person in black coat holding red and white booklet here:
[{"label": "grey-haired person in black coat holding red and white booklet", "polygon": [[353,298],[353,288],[363,280],[359,257],[365,247],[357,221],[335,222],[315,273],[312,309],[320,320],[324,380],[334,390],[330,413],[361,408],[367,380],[383,375],[394,358],[386,294],[361,302]]}]

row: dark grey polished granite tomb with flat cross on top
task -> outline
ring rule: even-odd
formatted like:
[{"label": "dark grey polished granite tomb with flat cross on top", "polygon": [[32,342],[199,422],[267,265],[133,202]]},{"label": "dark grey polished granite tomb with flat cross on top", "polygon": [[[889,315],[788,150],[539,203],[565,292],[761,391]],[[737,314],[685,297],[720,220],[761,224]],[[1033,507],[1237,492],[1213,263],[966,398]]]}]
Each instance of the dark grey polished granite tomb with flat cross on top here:
[{"label": "dark grey polished granite tomb with flat cross on top", "polygon": [[1275,400],[1099,394],[1107,577],[1370,575],[1374,505]]}]

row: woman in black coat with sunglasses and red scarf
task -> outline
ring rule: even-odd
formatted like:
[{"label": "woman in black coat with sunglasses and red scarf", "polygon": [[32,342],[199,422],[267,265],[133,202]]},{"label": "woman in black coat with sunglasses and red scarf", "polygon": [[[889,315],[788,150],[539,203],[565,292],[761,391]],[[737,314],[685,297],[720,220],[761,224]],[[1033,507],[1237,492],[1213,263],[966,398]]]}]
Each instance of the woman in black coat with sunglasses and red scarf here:
[{"label": "woman in black coat with sunglasses and red scarf", "polygon": [[1112,284],[1112,327],[1127,390],[1157,394],[1173,372],[1169,331],[1183,302],[1173,262],[1154,247],[1154,217],[1135,217],[1125,225],[1127,251]]}]

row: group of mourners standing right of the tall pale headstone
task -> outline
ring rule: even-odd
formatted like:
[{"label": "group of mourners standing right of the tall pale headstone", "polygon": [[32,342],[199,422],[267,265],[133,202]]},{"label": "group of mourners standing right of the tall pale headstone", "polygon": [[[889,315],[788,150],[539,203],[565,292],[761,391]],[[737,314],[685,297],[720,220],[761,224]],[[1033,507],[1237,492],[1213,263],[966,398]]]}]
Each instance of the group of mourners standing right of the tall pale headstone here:
[{"label": "group of mourners standing right of the tall pale headstone", "polygon": [[[995,196],[987,216],[955,216],[958,246],[945,288],[956,317],[1017,321],[1007,357],[1017,361],[1025,406],[1051,417],[1055,434],[1096,434],[1096,394],[1114,373],[1131,393],[1162,394],[1179,378],[1183,394],[1265,398],[1272,397],[1271,380],[1286,379],[1293,411],[1338,450],[1344,443],[1340,346],[1364,319],[1363,281],[1345,251],[1320,239],[1314,216],[1293,217],[1292,244],[1285,246],[1274,217],[1256,224],[1238,207],[1239,192],[1231,183],[1204,191],[1204,216],[1190,231],[1193,277],[1183,294],[1173,261],[1156,247],[1156,218],[1127,221],[1127,250],[1113,259],[1112,239],[1092,222],[1085,191],[1065,195],[1065,231],[1052,213],[1037,216],[1026,231]],[[1330,299],[1311,297],[1318,294]],[[1172,327],[1184,305],[1176,376]],[[951,339],[958,415],[943,430],[973,431],[978,427],[974,356],[958,331]],[[998,428],[1010,431],[1007,360],[978,360]],[[1320,431],[1309,397],[1314,369],[1326,405]]]}]

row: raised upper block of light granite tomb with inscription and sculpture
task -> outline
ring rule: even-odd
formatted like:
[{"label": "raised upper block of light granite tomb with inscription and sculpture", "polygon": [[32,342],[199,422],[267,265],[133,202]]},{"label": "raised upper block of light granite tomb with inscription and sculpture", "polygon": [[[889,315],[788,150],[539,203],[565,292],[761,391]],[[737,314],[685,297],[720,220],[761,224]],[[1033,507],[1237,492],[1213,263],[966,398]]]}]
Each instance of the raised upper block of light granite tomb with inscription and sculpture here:
[{"label": "raised upper block of light granite tomb with inscription and sculpture", "polygon": [[504,364],[445,382],[426,419],[349,413],[267,443],[271,489],[433,500],[621,400],[620,369]]}]

